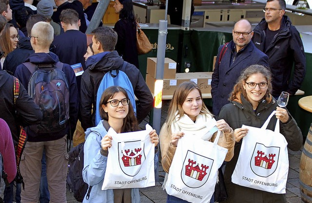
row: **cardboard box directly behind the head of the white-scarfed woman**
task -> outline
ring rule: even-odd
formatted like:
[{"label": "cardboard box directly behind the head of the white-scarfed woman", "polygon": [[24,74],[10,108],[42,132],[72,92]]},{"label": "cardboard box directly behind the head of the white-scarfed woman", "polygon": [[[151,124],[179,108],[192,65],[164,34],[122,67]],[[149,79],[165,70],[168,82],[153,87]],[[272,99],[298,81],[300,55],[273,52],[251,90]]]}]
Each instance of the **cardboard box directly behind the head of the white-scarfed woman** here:
[{"label": "cardboard box directly behind the head of the white-scarfed woman", "polygon": [[193,81],[200,89],[201,93],[211,93],[211,78],[213,72],[189,72],[189,73],[176,73],[178,85],[185,81]]}]

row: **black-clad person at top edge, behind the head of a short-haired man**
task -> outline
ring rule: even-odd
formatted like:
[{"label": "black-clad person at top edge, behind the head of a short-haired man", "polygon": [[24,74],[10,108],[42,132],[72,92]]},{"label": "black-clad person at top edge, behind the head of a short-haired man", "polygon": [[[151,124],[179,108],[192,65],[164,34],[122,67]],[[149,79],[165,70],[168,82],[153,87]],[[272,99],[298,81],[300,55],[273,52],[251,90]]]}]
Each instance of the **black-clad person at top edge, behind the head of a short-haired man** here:
[{"label": "black-clad person at top edge, behind the head of a short-haired man", "polygon": [[75,11],[77,11],[79,19],[80,19],[80,27],[79,30],[82,33],[85,33],[87,30],[87,23],[86,23],[86,19],[84,17],[84,13],[83,13],[83,5],[80,1],[78,0],[74,0],[72,3],[68,2],[67,0],[54,0],[55,4],[58,6],[58,9],[53,13],[52,15],[52,20],[54,22],[60,22],[59,16],[60,13],[62,12],[62,10],[71,8],[74,9]]}]

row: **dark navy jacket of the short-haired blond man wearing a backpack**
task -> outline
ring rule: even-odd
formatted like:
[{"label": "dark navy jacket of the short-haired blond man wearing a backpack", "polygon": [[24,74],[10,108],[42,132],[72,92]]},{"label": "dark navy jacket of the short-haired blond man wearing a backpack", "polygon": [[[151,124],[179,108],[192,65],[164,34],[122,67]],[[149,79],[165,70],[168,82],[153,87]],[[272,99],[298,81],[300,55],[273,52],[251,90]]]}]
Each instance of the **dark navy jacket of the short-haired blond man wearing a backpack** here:
[{"label": "dark navy jacket of the short-haired blond man wearing a backpack", "polygon": [[[55,64],[59,61],[59,57],[54,53],[34,53],[30,55],[25,62],[31,62],[34,64]],[[31,142],[42,142],[51,141],[62,138],[64,135],[69,133],[69,126],[71,127],[71,132],[74,133],[76,128],[76,123],[78,120],[78,89],[76,76],[73,68],[68,64],[64,64],[62,71],[65,73],[68,85],[69,85],[69,123],[67,127],[57,133],[51,134],[36,134],[35,132],[28,130],[28,141]],[[15,76],[20,79],[21,84],[28,89],[28,82],[32,76],[32,73],[23,64],[18,66],[15,71]]]}]

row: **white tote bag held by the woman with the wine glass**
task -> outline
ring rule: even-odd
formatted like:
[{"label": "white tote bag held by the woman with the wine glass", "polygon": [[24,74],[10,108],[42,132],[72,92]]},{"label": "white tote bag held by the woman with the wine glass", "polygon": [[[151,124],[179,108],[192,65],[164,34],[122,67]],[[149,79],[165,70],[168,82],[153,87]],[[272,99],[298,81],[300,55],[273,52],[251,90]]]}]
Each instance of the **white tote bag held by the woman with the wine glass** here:
[{"label": "white tote bag held by the woman with the wine glass", "polygon": [[248,134],[243,138],[232,182],[272,193],[285,194],[288,175],[288,151],[285,137],[279,133],[279,120],[275,130],[267,130],[269,116],[261,128],[243,125]]}]

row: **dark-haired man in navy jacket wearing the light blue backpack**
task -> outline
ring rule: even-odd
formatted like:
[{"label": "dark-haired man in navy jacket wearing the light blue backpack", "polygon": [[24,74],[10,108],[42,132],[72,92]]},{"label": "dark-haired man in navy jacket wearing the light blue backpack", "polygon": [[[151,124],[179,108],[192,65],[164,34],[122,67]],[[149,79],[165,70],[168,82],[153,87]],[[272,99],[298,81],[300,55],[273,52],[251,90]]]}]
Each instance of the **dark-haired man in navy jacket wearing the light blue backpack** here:
[{"label": "dark-haired man in navy jacket wearing the light blue backpack", "polygon": [[[140,123],[150,112],[153,106],[153,96],[146,85],[139,69],[132,64],[122,67],[123,59],[114,51],[117,43],[117,33],[108,27],[95,29],[92,37],[92,47],[95,55],[86,61],[87,70],[81,78],[81,126],[84,130],[95,126],[95,113],[98,106],[97,93],[99,84],[109,70],[122,70],[125,72],[133,86],[138,99],[137,120]],[[91,110],[93,113],[91,114]]]}]

